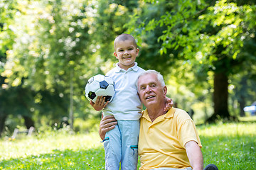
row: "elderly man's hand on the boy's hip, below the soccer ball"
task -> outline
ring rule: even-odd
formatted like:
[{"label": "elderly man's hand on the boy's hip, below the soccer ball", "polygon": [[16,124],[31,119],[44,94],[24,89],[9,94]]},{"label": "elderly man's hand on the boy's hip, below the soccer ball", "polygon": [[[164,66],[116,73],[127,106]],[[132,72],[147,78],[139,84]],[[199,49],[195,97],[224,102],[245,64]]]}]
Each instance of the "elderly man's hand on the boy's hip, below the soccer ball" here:
[{"label": "elderly man's hand on the boy's hip, below the soccer ball", "polygon": [[114,118],[114,115],[106,115],[102,120],[100,120],[100,129],[99,135],[102,140],[104,140],[106,132],[114,129],[115,125],[117,125],[117,120]]}]

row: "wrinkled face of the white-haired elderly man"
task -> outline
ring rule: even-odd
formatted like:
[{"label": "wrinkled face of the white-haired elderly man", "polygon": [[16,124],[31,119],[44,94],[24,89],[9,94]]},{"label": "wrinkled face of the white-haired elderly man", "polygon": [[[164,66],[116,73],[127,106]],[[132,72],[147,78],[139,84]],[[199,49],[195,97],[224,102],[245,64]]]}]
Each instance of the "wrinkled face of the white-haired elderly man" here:
[{"label": "wrinkled face of the white-haired elderly man", "polygon": [[161,105],[166,96],[166,86],[161,86],[156,74],[144,74],[138,79],[139,98],[144,106]]}]

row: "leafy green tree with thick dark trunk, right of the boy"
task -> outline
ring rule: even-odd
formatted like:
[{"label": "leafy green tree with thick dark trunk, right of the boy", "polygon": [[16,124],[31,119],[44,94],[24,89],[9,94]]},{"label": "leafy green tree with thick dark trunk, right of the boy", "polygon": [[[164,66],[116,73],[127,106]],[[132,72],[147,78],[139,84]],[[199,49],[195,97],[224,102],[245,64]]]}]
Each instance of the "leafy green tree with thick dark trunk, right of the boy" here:
[{"label": "leafy green tree with thick dark trunk, right of the boy", "polygon": [[[247,52],[245,45],[255,47],[255,3],[252,1],[142,1],[141,8],[164,9],[160,17],[141,21],[136,13],[129,25],[131,33],[146,35],[162,29],[158,38],[166,62],[175,56],[191,64],[196,77],[214,73],[215,115],[229,118],[228,77],[240,72],[241,67],[253,68],[255,52]],[[143,11],[143,10],[140,10]],[[139,29],[132,27],[136,24]],[[176,55],[168,57],[170,50]],[[247,63],[247,64],[243,64]],[[239,67],[240,69],[237,69]],[[193,69],[192,69],[193,68]],[[225,94],[225,95],[224,95]]]}]

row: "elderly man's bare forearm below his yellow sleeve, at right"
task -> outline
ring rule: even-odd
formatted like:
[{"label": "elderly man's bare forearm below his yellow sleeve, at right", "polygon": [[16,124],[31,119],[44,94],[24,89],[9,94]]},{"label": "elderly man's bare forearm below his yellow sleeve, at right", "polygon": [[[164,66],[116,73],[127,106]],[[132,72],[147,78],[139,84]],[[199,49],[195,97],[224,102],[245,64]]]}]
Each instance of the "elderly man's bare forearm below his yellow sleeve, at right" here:
[{"label": "elderly man's bare forearm below his yellow sleeve, at right", "polygon": [[189,141],[185,145],[189,162],[193,170],[203,170],[203,154],[195,141]]}]

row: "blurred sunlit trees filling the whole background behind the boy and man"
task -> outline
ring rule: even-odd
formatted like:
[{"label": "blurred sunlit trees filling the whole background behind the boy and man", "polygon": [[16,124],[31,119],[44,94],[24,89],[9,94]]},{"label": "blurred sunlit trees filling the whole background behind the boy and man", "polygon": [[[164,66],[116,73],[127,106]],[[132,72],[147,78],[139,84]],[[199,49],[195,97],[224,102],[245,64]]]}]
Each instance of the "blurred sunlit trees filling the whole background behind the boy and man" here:
[{"label": "blurred sunlit trees filling the whole background behind the boy and man", "polygon": [[0,0],[0,134],[26,124],[100,118],[87,79],[117,62],[114,38],[131,33],[137,62],[164,74],[195,121],[245,115],[256,101],[255,1]]}]

